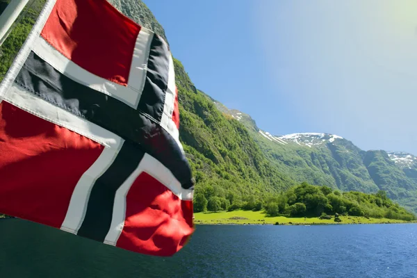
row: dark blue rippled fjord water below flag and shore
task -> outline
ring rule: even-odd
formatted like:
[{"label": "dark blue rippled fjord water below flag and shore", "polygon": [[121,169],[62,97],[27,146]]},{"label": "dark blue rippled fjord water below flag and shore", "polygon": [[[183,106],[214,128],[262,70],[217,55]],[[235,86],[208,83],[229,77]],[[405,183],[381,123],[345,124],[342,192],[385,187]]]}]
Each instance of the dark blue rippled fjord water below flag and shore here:
[{"label": "dark blue rippled fjord water below flag and shore", "polygon": [[417,224],[196,228],[160,258],[0,220],[0,277],[417,277]]}]

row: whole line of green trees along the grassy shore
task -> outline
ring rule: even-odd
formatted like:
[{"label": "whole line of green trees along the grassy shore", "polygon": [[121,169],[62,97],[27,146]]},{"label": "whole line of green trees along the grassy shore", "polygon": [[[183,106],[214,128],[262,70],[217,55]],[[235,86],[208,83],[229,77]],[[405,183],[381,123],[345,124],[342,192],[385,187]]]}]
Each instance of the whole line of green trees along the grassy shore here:
[{"label": "whole line of green trees along the grassy shore", "polygon": [[265,194],[259,199],[246,197],[240,206],[231,204],[228,197],[224,199],[213,196],[211,192],[199,192],[194,199],[195,211],[234,211],[243,208],[250,211],[264,210],[270,216],[326,218],[327,215],[350,215],[416,220],[414,214],[394,203],[382,190],[374,194],[341,192],[328,186],[312,186],[304,182],[279,194]]}]

